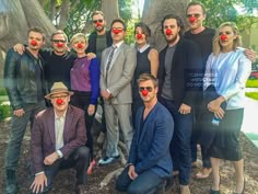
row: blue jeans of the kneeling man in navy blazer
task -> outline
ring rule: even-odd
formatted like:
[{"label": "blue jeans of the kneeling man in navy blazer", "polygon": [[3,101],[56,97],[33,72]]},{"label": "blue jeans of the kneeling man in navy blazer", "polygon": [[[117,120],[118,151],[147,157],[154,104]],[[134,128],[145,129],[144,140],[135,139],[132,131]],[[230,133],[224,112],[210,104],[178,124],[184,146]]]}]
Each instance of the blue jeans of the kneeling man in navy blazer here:
[{"label": "blue jeans of the kneeling man in navy blazer", "polygon": [[128,175],[129,167],[127,167],[118,176],[116,189],[119,192],[128,194],[154,194],[164,180],[151,170],[146,170],[138,174],[137,179],[131,180]]}]

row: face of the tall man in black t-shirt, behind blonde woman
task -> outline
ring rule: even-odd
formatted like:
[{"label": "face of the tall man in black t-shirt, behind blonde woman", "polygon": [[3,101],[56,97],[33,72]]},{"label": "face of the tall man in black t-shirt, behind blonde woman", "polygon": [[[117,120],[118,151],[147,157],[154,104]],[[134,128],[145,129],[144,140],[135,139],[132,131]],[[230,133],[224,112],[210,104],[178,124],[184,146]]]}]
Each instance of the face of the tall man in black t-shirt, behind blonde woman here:
[{"label": "face of the tall man in black t-shirt, behind blonde woman", "polygon": [[206,14],[203,13],[201,5],[190,5],[187,9],[187,19],[191,31],[201,28],[203,21],[206,20]]}]

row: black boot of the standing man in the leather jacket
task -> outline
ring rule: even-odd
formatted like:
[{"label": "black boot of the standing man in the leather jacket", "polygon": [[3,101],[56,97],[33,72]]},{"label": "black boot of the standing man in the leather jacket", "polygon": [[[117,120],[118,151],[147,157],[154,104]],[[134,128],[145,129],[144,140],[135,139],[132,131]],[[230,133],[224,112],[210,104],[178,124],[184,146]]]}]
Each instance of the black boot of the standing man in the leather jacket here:
[{"label": "black boot of the standing man in the leather jacket", "polygon": [[16,194],[17,184],[14,170],[7,170],[5,194]]}]

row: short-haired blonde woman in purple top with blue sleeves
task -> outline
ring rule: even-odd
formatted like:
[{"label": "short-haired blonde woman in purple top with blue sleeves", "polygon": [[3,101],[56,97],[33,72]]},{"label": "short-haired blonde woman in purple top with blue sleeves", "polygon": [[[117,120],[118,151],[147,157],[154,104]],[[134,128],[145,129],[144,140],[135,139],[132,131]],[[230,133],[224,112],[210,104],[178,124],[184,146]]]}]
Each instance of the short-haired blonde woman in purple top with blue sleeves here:
[{"label": "short-haired blonde woman in purple top with blue sleeves", "polygon": [[77,53],[77,59],[71,68],[71,90],[74,94],[71,104],[85,112],[86,146],[91,150],[93,160],[93,139],[91,128],[96,112],[97,98],[99,95],[99,62],[97,58],[90,58],[85,54],[87,41],[83,33],[78,33],[71,38],[71,46]]}]

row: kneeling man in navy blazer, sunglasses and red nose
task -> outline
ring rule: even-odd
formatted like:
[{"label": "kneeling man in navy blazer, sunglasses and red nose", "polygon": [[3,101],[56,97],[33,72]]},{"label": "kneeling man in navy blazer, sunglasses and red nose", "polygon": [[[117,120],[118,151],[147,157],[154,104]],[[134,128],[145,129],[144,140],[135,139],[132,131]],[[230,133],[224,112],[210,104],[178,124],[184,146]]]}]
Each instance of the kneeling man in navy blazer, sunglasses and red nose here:
[{"label": "kneeling man in navy blazer, sunglasses and red nose", "polygon": [[144,106],[137,112],[128,163],[117,180],[116,189],[128,194],[153,194],[173,172],[169,142],[174,121],[166,107],[157,102],[155,77],[143,73],[138,85]]}]

